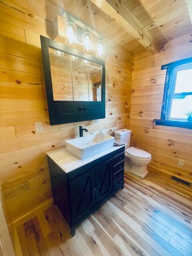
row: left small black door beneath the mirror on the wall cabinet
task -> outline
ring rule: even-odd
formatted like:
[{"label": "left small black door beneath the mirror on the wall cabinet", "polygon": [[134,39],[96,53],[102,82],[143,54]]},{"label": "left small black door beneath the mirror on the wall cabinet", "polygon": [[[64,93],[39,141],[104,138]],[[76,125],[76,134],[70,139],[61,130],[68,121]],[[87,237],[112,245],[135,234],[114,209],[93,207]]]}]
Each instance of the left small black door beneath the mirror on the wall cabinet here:
[{"label": "left small black door beneath the mirror on the wall cabinet", "polygon": [[58,123],[78,122],[83,117],[82,101],[54,101]]}]

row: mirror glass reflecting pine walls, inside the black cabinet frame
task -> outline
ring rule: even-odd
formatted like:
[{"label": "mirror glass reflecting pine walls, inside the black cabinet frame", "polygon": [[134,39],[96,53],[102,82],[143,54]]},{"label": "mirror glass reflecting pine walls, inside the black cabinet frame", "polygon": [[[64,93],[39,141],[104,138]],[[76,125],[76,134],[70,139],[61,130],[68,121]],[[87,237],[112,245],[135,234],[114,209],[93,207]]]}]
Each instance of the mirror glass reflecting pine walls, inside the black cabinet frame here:
[{"label": "mirror glass reflecting pine walls, inside the black cabinet frame", "polygon": [[49,47],[54,101],[102,101],[100,64]]}]

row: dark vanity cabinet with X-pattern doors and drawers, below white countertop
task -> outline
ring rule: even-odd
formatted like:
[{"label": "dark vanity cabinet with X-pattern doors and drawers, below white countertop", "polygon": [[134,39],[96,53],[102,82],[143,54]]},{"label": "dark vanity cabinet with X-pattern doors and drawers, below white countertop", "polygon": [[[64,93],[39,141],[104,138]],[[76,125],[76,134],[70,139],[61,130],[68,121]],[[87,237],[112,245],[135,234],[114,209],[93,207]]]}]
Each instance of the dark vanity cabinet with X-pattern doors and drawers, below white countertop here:
[{"label": "dark vanity cabinet with X-pattern doors and drawers, below white countertop", "polygon": [[52,194],[68,223],[75,228],[119,188],[124,188],[124,147],[65,173],[48,157]]}]

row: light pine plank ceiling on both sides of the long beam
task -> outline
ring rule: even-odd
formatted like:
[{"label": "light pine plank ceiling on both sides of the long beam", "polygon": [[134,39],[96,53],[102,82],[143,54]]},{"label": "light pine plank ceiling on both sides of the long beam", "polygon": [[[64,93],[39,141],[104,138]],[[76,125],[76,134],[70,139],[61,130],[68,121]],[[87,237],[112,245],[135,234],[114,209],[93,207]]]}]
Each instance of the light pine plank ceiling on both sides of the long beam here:
[{"label": "light pine plank ceiling on both sides of the long beam", "polygon": [[[56,1],[56,0],[55,0]],[[115,19],[102,11],[96,4],[106,2],[131,12],[138,24],[159,44],[192,33],[190,0],[64,0],[65,10],[96,28],[101,34],[122,46],[132,54],[145,51],[140,44]],[[103,9],[104,10],[104,9]],[[128,16],[128,15],[127,15]],[[191,15],[192,16],[192,15]],[[126,17],[127,18],[127,17]],[[139,42],[138,42],[139,41]]]}]

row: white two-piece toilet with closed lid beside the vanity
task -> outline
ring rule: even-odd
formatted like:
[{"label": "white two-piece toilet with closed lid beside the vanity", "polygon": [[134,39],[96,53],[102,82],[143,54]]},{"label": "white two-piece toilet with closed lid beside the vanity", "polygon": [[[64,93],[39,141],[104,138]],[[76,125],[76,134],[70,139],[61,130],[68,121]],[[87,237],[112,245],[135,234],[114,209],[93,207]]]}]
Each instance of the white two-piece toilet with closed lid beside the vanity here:
[{"label": "white two-piece toilet with closed lid beside the vanity", "polygon": [[125,170],[144,179],[148,174],[147,164],[151,162],[151,154],[138,148],[130,147],[131,130],[122,129],[114,132],[115,140],[127,143],[125,150]]}]

